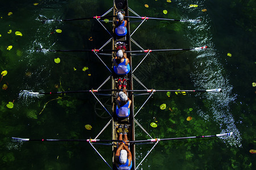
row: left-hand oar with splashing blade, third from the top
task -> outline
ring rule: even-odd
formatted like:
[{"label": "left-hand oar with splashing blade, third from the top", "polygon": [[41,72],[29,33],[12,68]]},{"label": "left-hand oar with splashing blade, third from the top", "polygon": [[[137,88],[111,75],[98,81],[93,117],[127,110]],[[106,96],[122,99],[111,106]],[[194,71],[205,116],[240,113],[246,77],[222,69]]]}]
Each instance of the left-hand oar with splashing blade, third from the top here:
[{"label": "left-hand oar with splashing blade, third from the top", "polygon": [[43,95],[51,94],[75,94],[84,92],[98,92],[98,91],[115,91],[115,90],[81,90],[81,91],[56,91],[56,92],[33,92],[28,90],[22,90],[19,92],[19,97],[41,97]]}]

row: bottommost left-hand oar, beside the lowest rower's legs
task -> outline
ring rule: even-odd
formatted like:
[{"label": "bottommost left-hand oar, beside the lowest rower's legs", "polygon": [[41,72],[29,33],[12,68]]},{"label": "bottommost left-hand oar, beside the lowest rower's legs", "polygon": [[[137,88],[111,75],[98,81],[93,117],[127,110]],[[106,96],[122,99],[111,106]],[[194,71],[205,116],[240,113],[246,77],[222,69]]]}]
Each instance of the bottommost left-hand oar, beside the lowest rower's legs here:
[{"label": "bottommost left-hand oar, beside the lowest rower's legs", "polygon": [[12,137],[15,141],[27,142],[27,141],[55,141],[55,142],[122,142],[120,140],[101,140],[101,139],[30,139],[30,138],[15,138]]}]

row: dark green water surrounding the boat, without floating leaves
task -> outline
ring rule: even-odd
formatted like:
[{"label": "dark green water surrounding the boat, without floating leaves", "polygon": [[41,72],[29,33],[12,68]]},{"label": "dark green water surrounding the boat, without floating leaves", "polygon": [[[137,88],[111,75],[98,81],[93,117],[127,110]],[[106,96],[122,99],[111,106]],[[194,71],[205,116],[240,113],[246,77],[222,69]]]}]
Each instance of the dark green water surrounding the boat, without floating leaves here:
[{"label": "dark green water surrounding the boat, without floating leaves", "polygon": [[[35,1],[36,2],[36,1]],[[34,48],[93,49],[99,48],[110,36],[96,21],[50,22],[40,18],[68,19],[102,15],[112,1],[31,1],[2,2],[0,6],[0,63],[3,76],[0,113],[1,169],[108,169],[90,147],[79,142],[17,143],[11,137],[87,139],[94,138],[109,121],[94,113],[96,100],[90,94],[45,95],[19,99],[20,90],[65,91],[98,88],[109,76],[101,61],[91,53],[42,53]],[[148,4],[148,8],[144,7]],[[189,5],[198,7],[191,8]],[[133,35],[144,49],[195,48],[209,49],[189,52],[152,53],[135,71],[147,88],[210,89],[222,88],[219,94],[188,94],[170,97],[155,93],[136,117],[155,138],[213,135],[233,131],[230,138],[189,139],[159,142],[139,169],[253,169],[255,137],[255,1],[129,1],[141,16],[191,19],[191,22],[148,20]],[[207,12],[201,10],[206,8]],[[167,10],[166,15],[163,10]],[[8,12],[13,15],[8,16]],[[200,23],[193,19],[202,19]],[[139,23],[131,24],[133,31]],[[111,30],[111,24],[105,24]],[[8,34],[7,31],[13,32]],[[61,29],[62,33],[52,33]],[[15,36],[15,31],[23,36]],[[52,33],[52,34],[51,34]],[[93,41],[89,41],[89,37]],[[13,49],[6,50],[13,45]],[[105,49],[108,49],[106,46]],[[132,49],[138,49],[134,44]],[[227,56],[228,53],[232,57]],[[54,58],[61,62],[56,64]],[[106,65],[110,59],[102,56]],[[133,65],[142,56],[133,58]],[[89,70],[82,71],[84,66]],[[77,70],[74,71],[73,67]],[[88,74],[91,74],[90,76]],[[138,83],[134,87],[142,89]],[[102,89],[110,88],[106,83]],[[61,99],[57,97],[62,97]],[[135,97],[135,110],[146,100]],[[52,100],[56,99],[56,100]],[[101,97],[101,100],[108,98]],[[14,108],[6,104],[14,101]],[[50,101],[52,100],[52,101]],[[50,101],[44,111],[44,105]],[[167,109],[160,110],[161,104]],[[108,103],[106,103],[108,104]],[[168,109],[172,108],[172,112]],[[192,108],[192,111],[189,111]],[[192,117],[187,121],[188,116]],[[157,128],[150,123],[158,120]],[[90,124],[92,130],[84,125]],[[148,138],[136,127],[136,139]],[[99,139],[111,137],[110,127]],[[112,163],[110,146],[96,146],[106,161]],[[137,146],[137,164],[152,145]]]}]

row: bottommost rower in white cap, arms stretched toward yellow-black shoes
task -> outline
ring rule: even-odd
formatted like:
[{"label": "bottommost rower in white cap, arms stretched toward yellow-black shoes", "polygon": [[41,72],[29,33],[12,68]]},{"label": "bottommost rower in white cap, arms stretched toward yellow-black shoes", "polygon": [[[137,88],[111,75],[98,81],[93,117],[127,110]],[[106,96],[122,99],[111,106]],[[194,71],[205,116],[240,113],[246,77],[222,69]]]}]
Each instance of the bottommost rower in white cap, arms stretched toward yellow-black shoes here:
[{"label": "bottommost rower in white cap, arms stretched toward yellow-black shoes", "polygon": [[[118,129],[122,128],[122,125],[118,126]],[[127,130],[128,126],[123,126],[125,130]],[[122,133],[119,133],[119,140],[123,141],[119,143],[119,147],[117,148],[117,152],[115,152],[115,166],[117,169],[126,169],[129,170],[133,166],[131,151],[128,148],[128,138],[127,134],[123,133],[124,138],[122,138]]]}]

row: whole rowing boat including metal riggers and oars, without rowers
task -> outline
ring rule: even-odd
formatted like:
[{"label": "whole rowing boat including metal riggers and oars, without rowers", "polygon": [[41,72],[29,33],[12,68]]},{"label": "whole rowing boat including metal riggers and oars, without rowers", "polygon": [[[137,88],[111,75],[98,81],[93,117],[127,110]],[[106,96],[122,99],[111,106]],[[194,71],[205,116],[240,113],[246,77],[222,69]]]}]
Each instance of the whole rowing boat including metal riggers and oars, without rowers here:
[{"label": "whole rowing boat including metal riggers and oars, without rowers", "polygon": [[[113,18],[113,31],[112,33],[110,33],[105,27],[106,31],[108,31],[108,33],[110,35],[112,35],[112,38],[106,42],[106,44],[108,44],[110,41],[112,41],[112,50],[110,50],[112,53],[110,54],[110,56],[112,56],[112,61],[114,59],[114,57],[116,56],[116,45],[118,44],[117,42],[121,42],[121,43],[125,43],[126,44],[126,53],[127,53],[127,57],[129,58],[130,61],[130,73],[125,75],[125,77],[127,78],[127,92],[129,93],[128,96],[131,100],[131,107],[130,107],[130,115],[127,118],[119,118],[116,116],[115,114],[115,108],[116,108],[116,104],[115,104],[115,100],[117,99],[117,78],[118,76],[115,75],[113,73],[113,71],[111,71],[108,66],[104,65],[108,68],[108,70],[112,73],[112,75],[109,76],[108,79],[105,80],[104,83],[106,83],[110,78],[111,78],[111,89],[110,90],[101,90],[100,88],[102,87],[102,85],[100,87],[97,88],[97,90],[85,90],[85,91],[75,91],[75,92],[90,92],[94,97],[96,97],[97,92],[100,91],[110,91],[110,96],[112,99],[112,112],[109,113],[108,109],[106,109],[104,107],[104,105],[101,103],[101,101],[96,97],[96,99],[98,100],[98,102],[102,105],[102,107],[106,110],[106,112],[109,113],[109,115],[112,117],[111,120],[108,122],[108,124],[106,124],[106,126],[101,130],[104,131],[106,129],[106,127],[109,124],[112,124],[112,139],[110,140],[101,140],[101,139],[97,139],[98,136],[101,134],[101,132],[97,135],[97,137],[95,137],[94,139],[27,139],[27,138],[14,138],[15,140],[19,140],[19,141],[80,141],[80,142],[89,142],[90,145],[96,150],[96,148],[93,146],[94,142],[110,142],[110,145],[112,145],[112,154],[113,154],[113,158],[112,158],[112,167],[106,162],[106,160],[100,155],[100,152],[98,152],[96,150],[96,152],[101,156],[101,158],[104,160],[104,162],[106,164],[108,164],[108,166],[110,168],[116,169],[115,167],[115,152],[117,151],[118,148],[118,142],[120,142],[118,140],[118,133],[117,133],[117,126],[118,125],[125,125],[127,124],[129,126],[129,133],[128,133],[128,140],[129,140],[129,149],[131,151],[132,154],[132,168],[131,169],[138,169],[139,165],[141,165],[141,163],[143,162],[144,159],[146,159],[147,155],[150,154],[150,152],[152,151],[152,149],[158,144],[159,141],[167,141],[167,140],[176,140],[176,139],[189,139],[189,138],[206,138],[206,137],[228,137],[229,135],[232,135],[232,133],[225,133],[225,134],[216,134],[216,135],[208,135],[208,136],[196,136],[196,137],[180,137],[180,138],[166,138],[166,139],[159,139],[159,138],[152,138],[150,136],[150,134],[147,133],[146,130],[144,130],[142,128],[141,125],[139,125],[139,122],[137,120],[135,120],[135,116],[136,114],[138,114],[138,112],[141,110],[141,108],[144,106],[144,104],[147,102],[148,99],[150,99],[150,97],[155,93],[155,92],[220,92],[220,89],[213,89],[213,90],[148,90],[145,86],[142,86],[145,88],[144,90],[134,90],[133,89],[133,79],[137,80],[139,82],[139,80],[133,75],[133,72],[137,69],[137,67],[141,64],[141,62],[148,56],[148,54],[150,54],[151,52],[158,52],[158,51],[172,51],[172,50],[198,50],[198,49],[205,49],[206,46],[200,47],[200,48],[194,48],[194,49],[160,49],[160,50],[144,50],[141,48],[141,46],[139,46],[137,43],[134,42],[134,40],[131,40],[131,36],[133,35],[133,33],[138,29],[138,27],[147,19],[158,19],[158,18],[148,18],[148,17],[141,17],[138,14],[136,14],[134,11],[132,11],[129,7],[128,7],[128,1],[127,0],[113,0],[113,8],[110,9],[108,12],[106,12],[104,15],[108,14],[110,11],[113,10],[113,16],[111,16]],[[127,34],[126,36],[116,36],[115,35],[115,21],[116,18],[115,16],[117,15],[117,11],[122,10],[125,18],[127,20]],[[132,11],[135,15],[137,16],[130,16],[129,15],[129,10]],[[98,22],[100,22],[100,18],[102,18],[102,16],[94,16],[93,18],[96,19]],[[139,24],[139,26],[135,29],[135,31],[133,33],[130,32],[130,18],[141,18],[142,19],[142,23]],[[88,18],[86,18],[88,19]],[[75,19],[73,19],[75,20]],[[77,19],[78,20],[78,19]],[[163,20],[163,19],[162,19]],[[171,19],[167,19],[167,20],[171,20]],[[60,20],[58,20],[60,21]],[[65,21],[65,20],[63,20]],[[66,20],[67,21],[67,20]],[[180,21],[180,20],[171,20],[171,21]],[[102,25],[102,24],[101,24]],[[104,26],[104,25],[102,25]],[[132,57],[131,57],[131,41],[133,41],[135,43],[135,45],[137,45],[139,48],[141,48],[142,50],[137,50],[137,51],[133,51],[135,52],[144,52],[146,53],[146,56],[142,59],[142,61],[137,65],[137,67],[135,67],[135,69],[133,69],[132,67]],[[104,44],[104,46],[106,45]],[[102,48],[104,48],[104,46],[102,46],[100,49],[96,50],[48,50],[48,51],[53,51],[53,52],[73,52],[73,51],[80,51],[80,52],[93,52],[94,54],[96,54],[96,56],[98,58],[100,58],[98,55],[98,52],[109,52],[109,50],[102,50]],[[112,65],[113,67],[113,65]],[[139,82],[141,83],[141,82]],[[28,96],[39,96],[39,95],[43,95],[43,94],[67,94],[67,93],[73,93],[74,91],[63,91],[63,92],[49,92],[49,93],[45,93],[45,92],[31,92],[31,91],[22,91],[21,95],[28,95]],[[148,93],[148,98],[146,99],[146,101],[143,103],[143,105],[138,109],[138,111],[134,114],[134,94],[133,92],[147,92]],[[134,129],[134,125],[135,123],[142,128],[142,130],[148,135],[148,137],[150,137],[150,139],[143,139],[143,140],[139,140],[139,141],[135,141],[135,129]],[[135,163],[135,144],[136,143],[143,143],[143,142],[147,142],[147,143],[153,143],[154,146],[151,148],[150,151],[147,152],[146,156],[144,157],[144,159],[142,159],[142,161],[137,165]],[[98,143],[100,144],[100,143]]]}]

